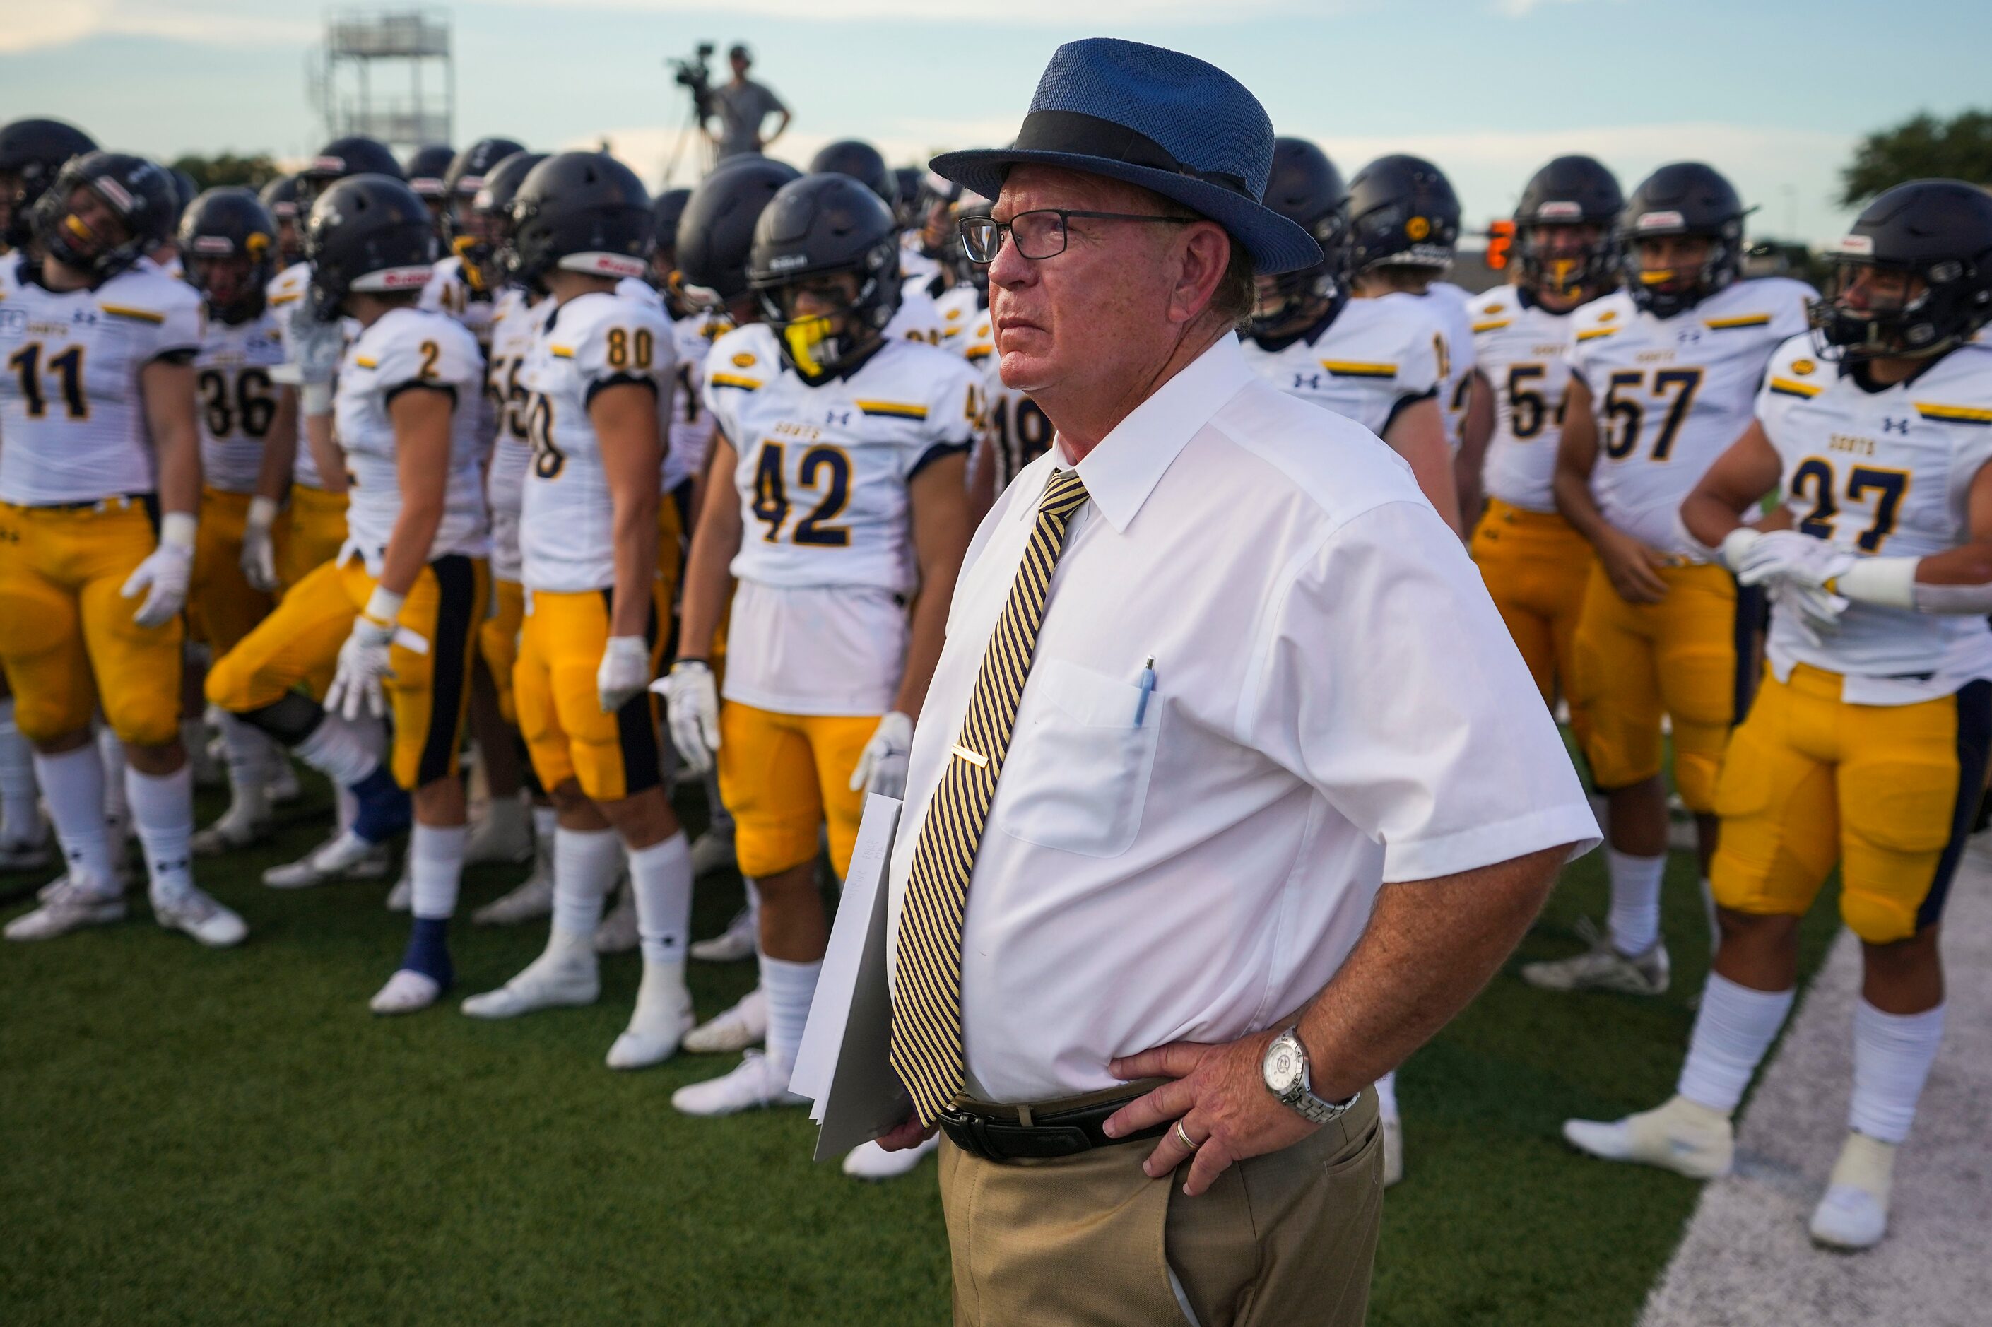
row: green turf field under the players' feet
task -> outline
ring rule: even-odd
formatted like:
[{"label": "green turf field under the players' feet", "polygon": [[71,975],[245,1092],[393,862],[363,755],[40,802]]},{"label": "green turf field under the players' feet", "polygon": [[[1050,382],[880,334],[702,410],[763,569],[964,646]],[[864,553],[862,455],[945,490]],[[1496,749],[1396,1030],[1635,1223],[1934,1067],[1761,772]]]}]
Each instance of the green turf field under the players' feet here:
[{"label": "green turf field under the players' feet", "polygon": [[[219,811],[203,797],[203,821]],[[685,807],[697,819],[697,803]],[[454,1002],[378,1020],[406,921],[382,885],[277,893],[323,793],[269,849],[205,865],[249,921],[239,950],[122,927],[0,948],[0,1321],[946,1323],[932,1162],[886,1186],[809,1162],[805,1112],[687,1120],[669,1092],[729,1058],[612,1074],[637,958],[594,1008],[474,1022]],[[466,915],[520,871],[482,869]],[[44,877],[0,877],[4,915]],[[739,883],[699,889],[717,930]],[[1604,909],[1570,869],[1518,960],[1578,948]],[[1833,934],[1815,909],[1805,972]],[[1673,1086],[1705,970],[1687,855],[1667,877],[1663,1000],[1494,986],[1400,1074],[1406,1180],[1384,1203],[1370,1321],[1631,1323],[1695,1186],[1570,1154],[1558,1124]],[[460,927],[458,994],[528,962],[544,927]],[[709,1016],[751,964],[695,966]]]}]

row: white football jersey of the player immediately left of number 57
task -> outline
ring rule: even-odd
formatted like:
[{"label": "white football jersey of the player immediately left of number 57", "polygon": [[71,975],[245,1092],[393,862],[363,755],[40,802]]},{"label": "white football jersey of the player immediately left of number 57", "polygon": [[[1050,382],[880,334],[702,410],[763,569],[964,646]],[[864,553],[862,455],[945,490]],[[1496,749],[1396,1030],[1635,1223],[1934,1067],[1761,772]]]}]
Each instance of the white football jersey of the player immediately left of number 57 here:
[{"label": "white football jersey of the player immediately left of number 57", "polygon": [[1482,482],[1488,494],[1528,512],[1554,512],[1550,480],[1564,436],[1570,389],[1570,313],[1550,313],[1504,285],[1472,303],[1474,365],[1494,389],[1494,436]]}]

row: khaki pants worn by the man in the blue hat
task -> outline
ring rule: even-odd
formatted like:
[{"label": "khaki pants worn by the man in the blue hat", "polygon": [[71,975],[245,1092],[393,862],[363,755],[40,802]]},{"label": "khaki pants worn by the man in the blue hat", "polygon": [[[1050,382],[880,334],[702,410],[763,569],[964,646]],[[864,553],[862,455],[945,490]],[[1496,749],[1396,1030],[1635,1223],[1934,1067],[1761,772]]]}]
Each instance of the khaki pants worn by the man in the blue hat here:
[{"label": "khaki pants worn by the man in the blue hat", "polygon": [[[956,1327],[1357,1327],[1382,1219],[1376,1094],[1183,1195],[1155,1140],[1042,1162],[940,1144]],[[1181,1287],[1181,1299],[1175,1285]]]}]

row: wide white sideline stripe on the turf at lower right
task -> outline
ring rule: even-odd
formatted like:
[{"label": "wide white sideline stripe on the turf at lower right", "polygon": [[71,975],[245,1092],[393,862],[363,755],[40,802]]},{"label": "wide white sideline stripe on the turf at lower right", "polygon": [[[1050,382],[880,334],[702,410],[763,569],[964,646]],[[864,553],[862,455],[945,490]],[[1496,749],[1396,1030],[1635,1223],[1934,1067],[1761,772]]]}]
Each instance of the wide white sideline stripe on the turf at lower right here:
[{"label": "wide white sideline stripe on the turf at lower right", "polygon": [[1805,1233],[1847,1136],[1861,944],[1843,930],[1743,1116],[1737,1170],[1701,1192],[1639,1327],[1966,1327],[1988,1321],[1992,871],[1964,855],[1944,909],[1944,1044],[1894,1166],[1888,1237],[1827,1253]]}]

